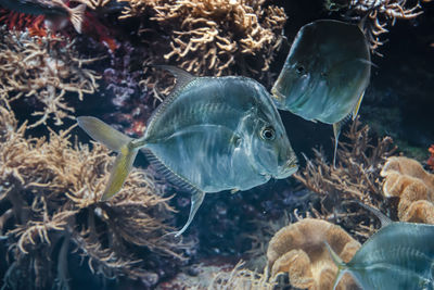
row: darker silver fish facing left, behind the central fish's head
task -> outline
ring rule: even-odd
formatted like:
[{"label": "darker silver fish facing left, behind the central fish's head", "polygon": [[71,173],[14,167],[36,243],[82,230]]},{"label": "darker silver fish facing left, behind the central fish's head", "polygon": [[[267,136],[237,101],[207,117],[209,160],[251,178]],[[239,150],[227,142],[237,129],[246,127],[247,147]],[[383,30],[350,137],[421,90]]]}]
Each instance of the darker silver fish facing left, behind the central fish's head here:
[{"label": "darker silver fish facing left, behind the central fish's head", "polygon": [[321,20],[299,29],[271,92],[278,109],[333,124],[334,163],[342,123],[356,117],[370,73],[369,45],[360,28]]}]

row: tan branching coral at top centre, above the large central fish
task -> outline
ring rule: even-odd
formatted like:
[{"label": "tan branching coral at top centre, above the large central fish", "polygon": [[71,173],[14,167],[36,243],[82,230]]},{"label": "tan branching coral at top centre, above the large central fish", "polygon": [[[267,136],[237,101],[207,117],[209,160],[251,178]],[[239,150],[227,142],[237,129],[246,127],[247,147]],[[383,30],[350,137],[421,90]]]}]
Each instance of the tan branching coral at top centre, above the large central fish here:
[{"label": "tan branching coral at top centre, above the large central fish", "polygon": [[123,1],[129,3],[124,17],[146,13],[168,31],[166,60],[197,75],[267,72],[286,21],[266,0]]}]

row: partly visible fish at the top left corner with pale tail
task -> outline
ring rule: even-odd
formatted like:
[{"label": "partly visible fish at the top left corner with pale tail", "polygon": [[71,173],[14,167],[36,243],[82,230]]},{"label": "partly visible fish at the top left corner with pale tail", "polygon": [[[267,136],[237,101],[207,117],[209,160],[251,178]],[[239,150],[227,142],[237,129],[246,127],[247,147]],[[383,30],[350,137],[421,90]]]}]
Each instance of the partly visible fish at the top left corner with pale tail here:
[{"label": "partly visible fish at the top left corner with pale tail", "polygon": [[59,29],[64,20],[69,20],[77,33],[81,33],[86,10],[85,4],[69,8],[62,0],[0,0],[0,7],[25,14],[44,15],[49,26],[52,26],[50,28]]}]

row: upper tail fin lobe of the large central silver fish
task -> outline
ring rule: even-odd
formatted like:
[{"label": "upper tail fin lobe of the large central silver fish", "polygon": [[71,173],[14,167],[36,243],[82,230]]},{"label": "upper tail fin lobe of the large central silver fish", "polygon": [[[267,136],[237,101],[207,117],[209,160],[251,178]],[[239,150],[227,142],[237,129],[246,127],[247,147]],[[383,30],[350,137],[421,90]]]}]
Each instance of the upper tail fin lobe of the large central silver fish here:
[{"label": "upper tail fin lobe of the large central silver fish", "polygon": [[120,149],[132,141],[131,138],[112,128],[99,118],[91,116],[77,117],[78,126],[95,141],[106,146],[110,150],[119,152]]}]

